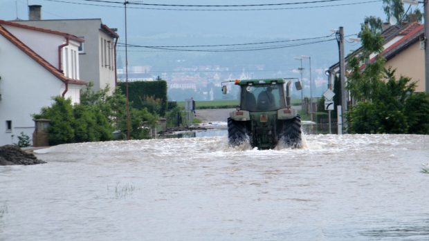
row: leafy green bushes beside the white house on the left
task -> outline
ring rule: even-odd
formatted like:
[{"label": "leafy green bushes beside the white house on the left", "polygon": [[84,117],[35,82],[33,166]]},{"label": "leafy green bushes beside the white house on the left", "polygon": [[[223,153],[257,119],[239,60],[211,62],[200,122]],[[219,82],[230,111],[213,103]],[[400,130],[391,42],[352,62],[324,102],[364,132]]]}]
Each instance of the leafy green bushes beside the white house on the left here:
[{"label": "leafy green bushes beside the white house on the left", "polygon": [[[71,104],[70,99],[55,97],[50,107],[42,108],[35,119],[50,119],[48,142],[50,145],[72,142],[98,142],[113,139],[113,131],[118,130],[125,139],[127,133],[127,100],[117,88],[107,95],[109,88],[94,92],[91,84],[82,91],[81,103]],[[131,104],[130,104],[131,106]],[[149,131],[158,117],[147,108],[130,108],[131,137],[147,139]]]}]

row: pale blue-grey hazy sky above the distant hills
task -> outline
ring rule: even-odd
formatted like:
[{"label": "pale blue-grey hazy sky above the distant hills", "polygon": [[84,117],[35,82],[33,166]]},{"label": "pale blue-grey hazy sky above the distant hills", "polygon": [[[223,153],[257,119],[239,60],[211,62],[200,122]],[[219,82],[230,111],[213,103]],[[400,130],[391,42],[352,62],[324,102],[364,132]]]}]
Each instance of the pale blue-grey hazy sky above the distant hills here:
[{"label": "pale blue-grey hazy sky above the distant hills", "polygon": [[[69,2],[62,3],[60,1]],[[116,1],[121,0],[106,0]],[[166,4],[206,4],[206,5],[242,5],[261,3],[292,3],[305,0],[151,0],[145,3]],[[320,0],[315,0],[320,1]],[[365,16],[375,15],[384,18],[382,2],[363,3],[349,6],[332,6],[336,4],[360,3],[368,0],[332,0],[314,4],[282,5],[282,6],[255,6],[239,8],[211,8],[211,9],[262,9],[262,8],[297,8],[289,10],[248,10],[248,11],[178,11],[178,10],[147,10],[136,8],[173,8],[161,6],[128,5],[128,35],[129,37],[161,37],[170,35],[222,35],[253,39],[257,37],[285,37],[291,39],[318,37],[329,35],[330,30],[344,26],[345,34],[354,34],[359,31],[360,23]],[[370,0],[371,1],[371,0]],[[143,1],[131,1],[140,2]],[[111,8],[103,6],[89,6],[72,3],[87,3],[95,5],[107,5],[96,1],[87,0],[0,0],[0,19],[11,20],[28,19],[27,3],[42,5],[42,19],[78,19],[101,18],[103,23],[111,28],[118,28],[123,36],[124,10],[123,8]],[[111,3],[111,6],[122,7],[121,4]],[[315,7],[316,8],[309,8]],[[184,7],[189,9],[189,7]],[[183,8],[181,8],[183,9]],[[208,9],[208,8],[198,8]],[[168,34],[168,35],[165,35]],[[172,44],[178,44],[171,39]],[[228,39],[226,39],[226,44]],[[131,43],[144,44],[144,43]],[[180,43],[179,43],[180,44]],[[217,44],[217,43],[201,43]]]}]

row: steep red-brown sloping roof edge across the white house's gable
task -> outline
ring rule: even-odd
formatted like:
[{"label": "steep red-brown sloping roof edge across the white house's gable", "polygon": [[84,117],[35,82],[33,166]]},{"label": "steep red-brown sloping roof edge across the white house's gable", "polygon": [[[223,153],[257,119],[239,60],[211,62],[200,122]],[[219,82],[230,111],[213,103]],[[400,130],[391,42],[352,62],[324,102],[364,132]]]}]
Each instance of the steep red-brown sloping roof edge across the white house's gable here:
[{"label": "steep red-brown sloping roof edge across the white house's gable", "polygon": [[85,81],[80,81],[77,79],[71,79],[69,77],[66,77],[63,73],[60,72],[60,70],[55,68],[52,64],[49,64],[49,62],[46,61],[46,59],[42,58],[40,55],[37,55],[37,53],[34,50],[26,46],[23,42],[17,39],[17,37],[12,35],[12,33],[6,30],[6,28],[4,28],[1,23],[0,23],[0,35],[8,39],[8,41],[10,41],[12,44],[17,46],[20,50],[22,50],[22,52],[26,53],[26,55],[34,59],[38,64],[46,68],[46,70],[51,72],[53,75],[55,75],[55,77],[57,77],[64,83],[77,84],[77,85],[87,84]]}]

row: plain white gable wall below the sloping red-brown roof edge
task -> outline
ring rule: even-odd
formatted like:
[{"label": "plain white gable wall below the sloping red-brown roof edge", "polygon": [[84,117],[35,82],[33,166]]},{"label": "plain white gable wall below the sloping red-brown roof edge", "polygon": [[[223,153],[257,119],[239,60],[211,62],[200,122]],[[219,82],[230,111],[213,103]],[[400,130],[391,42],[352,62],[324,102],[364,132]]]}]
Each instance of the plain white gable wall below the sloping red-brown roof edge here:
[{"label": "plain white gable wall below the sloping red-brown roof edge", "polygon": [[[43,106],[51,106],[51,97],[61,95],[65,85],[2,36],[0,77],[1,146],[17,143],[21,131],[31,137],[35,126],[32,115]],[[6,130],[7,121],[12,121],[11,130]]]}]

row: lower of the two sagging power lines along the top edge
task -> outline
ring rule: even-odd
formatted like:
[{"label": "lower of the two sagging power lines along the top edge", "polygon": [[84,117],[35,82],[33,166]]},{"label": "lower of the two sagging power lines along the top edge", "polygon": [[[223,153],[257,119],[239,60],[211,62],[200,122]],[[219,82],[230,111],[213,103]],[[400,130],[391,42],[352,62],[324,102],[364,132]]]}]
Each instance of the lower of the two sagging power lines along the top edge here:
[{"label": "lower of the two sagging power lines along the top edge", "polygon": [[[71,1],[64,1],[64,0],[44,0],[44,1],[52,1],[57,3],[69,3],[69,4],[77,4],[77,5],[85,5],[85,6],[100,6],[100,7],[107,7],[107,8],[124,8],[124,6],[112,6],[112,5],[101,5],[101,4],[95,4],[95,3],[77,3],[77,2],[71,2]],[[86,0],[83,0],[86,1]],[[88,0],[89,1],[89,0]],[[91,0],[94,1],[95,0]],[[344,0],[336,0],[336,1],[344,1]],[[329,8],[329,7],[336,7],[336,6],[352,6],[352,5],[358,5],[358,4],[366,4],[366,3],[378,3],[382,0],[373,0],[373,1],[361,1],[356,3],[338,3],[338,4],[330,4],[330,5],[322,5],[322,6],[302,6],[302,7],[291,7],[291,8],[248,8],[248,9],[184,9],[184,8],[140,8],[140,7],[131,7],[128,6],[127,8],[131,9],[141,9],[141,10],[172,10],[172,11],[264,11],[264,10],[296,10],[296,9],[310,9],[310,8]],[[119,2],[113,2],[113,1],[96,1],[100,3],[119,3]],[[322,1],[314,1],[313,3],[319,3]],[[122,5],[124,3],[122,2]],[[300,4],[300,3],[297,3]]]}]

